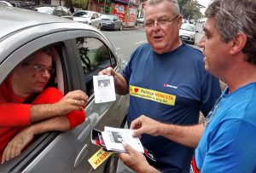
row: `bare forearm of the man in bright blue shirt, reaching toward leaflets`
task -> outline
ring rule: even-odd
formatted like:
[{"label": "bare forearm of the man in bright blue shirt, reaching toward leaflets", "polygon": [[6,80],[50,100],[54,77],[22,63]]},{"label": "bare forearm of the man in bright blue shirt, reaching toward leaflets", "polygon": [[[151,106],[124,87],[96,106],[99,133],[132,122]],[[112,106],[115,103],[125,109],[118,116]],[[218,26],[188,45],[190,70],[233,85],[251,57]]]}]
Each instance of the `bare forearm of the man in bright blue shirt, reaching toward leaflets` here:
[{"label": "bare forearm of the man in bright blue shirt, reaching toward leaflets", "polygon": [[203,124],[193,126],[181,126],[174,124],[161,124],[159,127],[160,136],[175,141],[183,146],[197,147],[204,131]]}]

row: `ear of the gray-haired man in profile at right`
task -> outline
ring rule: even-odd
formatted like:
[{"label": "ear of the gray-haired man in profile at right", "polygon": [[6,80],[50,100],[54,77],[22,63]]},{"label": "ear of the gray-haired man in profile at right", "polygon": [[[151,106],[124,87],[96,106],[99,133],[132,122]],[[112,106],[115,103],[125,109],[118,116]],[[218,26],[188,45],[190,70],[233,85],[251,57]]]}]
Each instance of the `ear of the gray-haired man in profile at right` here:
[{"label": "ear of the gray-haired man in profile at right", "polygon": [[237,33],[236,38],[232,41],[233,45],[230,49],[230,54],[234,55],[237,52],[240,52],[241,49],[243,49],[247,43],[247,36],[244,33]]}]

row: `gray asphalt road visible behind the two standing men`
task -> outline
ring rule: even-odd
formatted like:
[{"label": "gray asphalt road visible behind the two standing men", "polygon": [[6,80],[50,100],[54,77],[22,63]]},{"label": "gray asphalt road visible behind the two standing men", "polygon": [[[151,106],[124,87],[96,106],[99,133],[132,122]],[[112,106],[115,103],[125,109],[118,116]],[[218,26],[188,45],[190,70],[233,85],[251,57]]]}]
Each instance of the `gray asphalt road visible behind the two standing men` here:
[{"label": "gray asphalt road visible behind the two standing men", "polygon": [[[195,47],[196,49],[200,49],[198,47],[198,42],[200,41],[200,38],[203,34],[201,25],[197,25],[197,30],[199,32],[196,33],[195,45],[190,45]],[[117,49],[119,54],[124,55],[126,60],[130,59],[132,51],[135,50],[139,45],[143,43],[148,43],[146,33],[143,27],[121,32],[102,32],[106,37],[108,37],[110,42],[113,43],[113,46],[115,47],[115,49]]]}]

